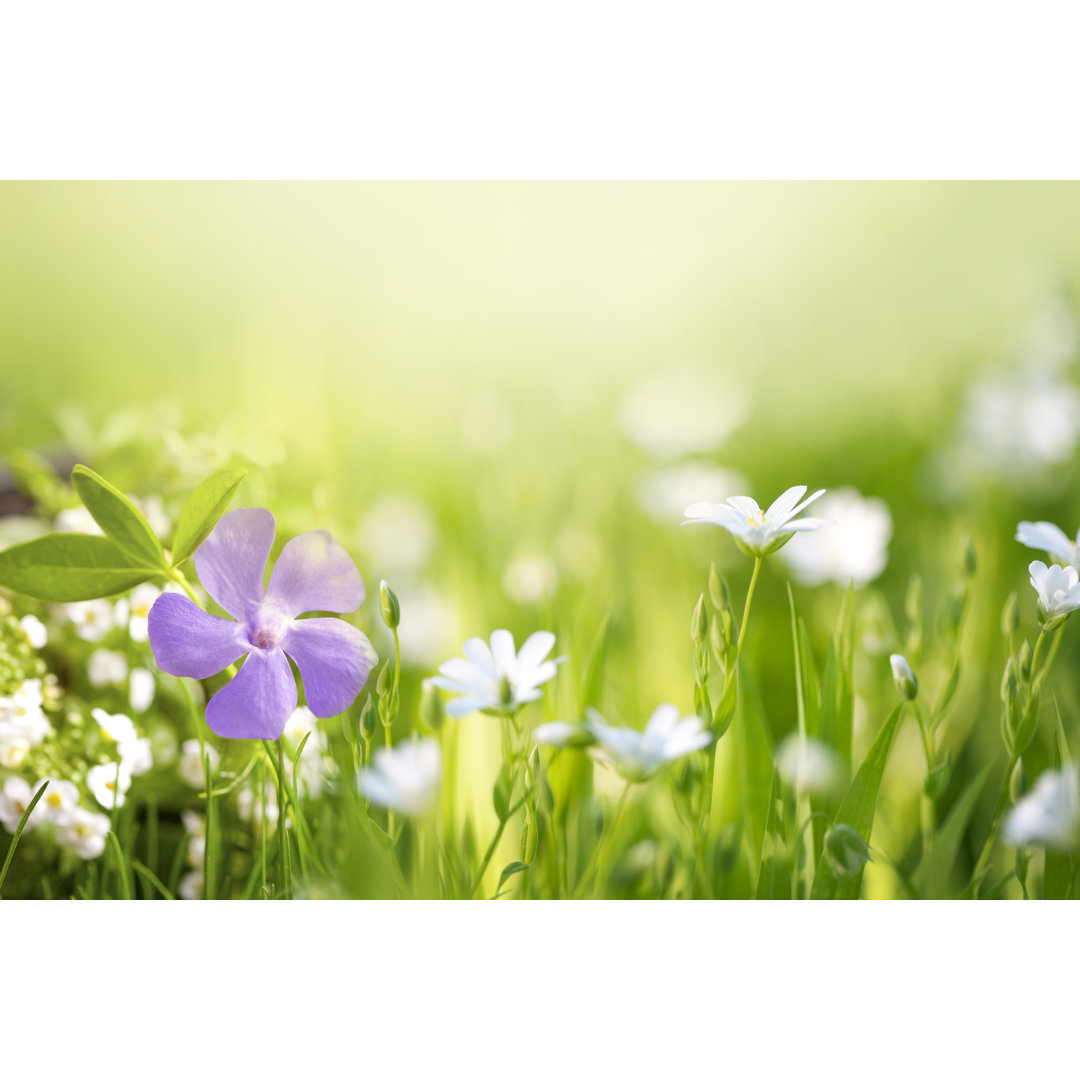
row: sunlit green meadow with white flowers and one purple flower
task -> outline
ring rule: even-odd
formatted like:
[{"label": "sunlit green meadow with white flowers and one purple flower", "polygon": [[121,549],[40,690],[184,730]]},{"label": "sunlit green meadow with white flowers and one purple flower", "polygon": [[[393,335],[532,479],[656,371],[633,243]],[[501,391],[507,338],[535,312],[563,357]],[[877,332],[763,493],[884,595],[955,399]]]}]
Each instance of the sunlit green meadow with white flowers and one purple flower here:
[{"label": "sunlit green meadow with white flowers and one purple flower", "polygon": [[0,187],[0,896],[1075,896],[1075,197]]}]

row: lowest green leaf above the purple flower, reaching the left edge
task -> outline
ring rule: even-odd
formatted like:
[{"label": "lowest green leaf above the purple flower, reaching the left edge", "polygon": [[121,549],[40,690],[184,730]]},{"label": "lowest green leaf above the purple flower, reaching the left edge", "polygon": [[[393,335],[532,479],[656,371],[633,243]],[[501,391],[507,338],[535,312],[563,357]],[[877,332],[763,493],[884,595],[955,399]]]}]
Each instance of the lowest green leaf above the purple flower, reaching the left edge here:
[{"label": "lowest green leaf above the purple flower, reaching the left edge", "polygon": [[161,573],[143,566],[108,537],[52,532],[0,551],[0,585],[39,600],[68,604],[126,592]]}]

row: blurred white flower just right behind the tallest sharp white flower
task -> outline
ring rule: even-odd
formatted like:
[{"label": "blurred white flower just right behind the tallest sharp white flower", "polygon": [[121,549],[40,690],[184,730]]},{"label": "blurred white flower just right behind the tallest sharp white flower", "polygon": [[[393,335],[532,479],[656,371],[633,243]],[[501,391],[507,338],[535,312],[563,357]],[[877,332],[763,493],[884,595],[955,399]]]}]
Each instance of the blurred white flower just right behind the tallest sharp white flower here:
[{"label": "blurred white flower just right behind the tallest sharp white flower", "polygon": [[881,499],[864,499],[854,488],[831,491],[818,504],[818,513],[836,523],[791,544],[781,558],[792,576],[805,585],[835,581],[865,585],[877,578],[889,562],[892,516]]}]

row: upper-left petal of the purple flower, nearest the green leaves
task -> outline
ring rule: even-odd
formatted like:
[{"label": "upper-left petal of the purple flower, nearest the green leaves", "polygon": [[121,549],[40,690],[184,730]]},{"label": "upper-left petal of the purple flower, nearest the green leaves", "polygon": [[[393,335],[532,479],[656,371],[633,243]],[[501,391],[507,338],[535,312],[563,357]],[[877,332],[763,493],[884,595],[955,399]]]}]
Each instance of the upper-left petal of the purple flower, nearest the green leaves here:
[{"label": "upper-left petal of the purple flower, nearest the green leaves", "polygon": [[195,552],[195,571],[203,589],[233,619],[243,621],[251,607],[262,603],[273,534],[269,510],[231,510]]}]

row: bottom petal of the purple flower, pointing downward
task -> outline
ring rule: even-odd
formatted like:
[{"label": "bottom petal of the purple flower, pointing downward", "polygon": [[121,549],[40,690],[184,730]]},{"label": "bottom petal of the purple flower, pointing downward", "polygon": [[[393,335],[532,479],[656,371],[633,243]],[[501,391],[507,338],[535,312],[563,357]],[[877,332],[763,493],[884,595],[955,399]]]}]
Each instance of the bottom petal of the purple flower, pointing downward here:
[{"label": "bottom petal of the purple flower, pointing downward", "polygon": [[222,739],[276,739],[296,708],[296,679],[281,649],[255,649],[239,674],[206,705],[206,723]]}]

